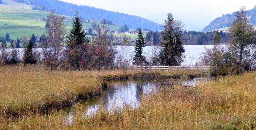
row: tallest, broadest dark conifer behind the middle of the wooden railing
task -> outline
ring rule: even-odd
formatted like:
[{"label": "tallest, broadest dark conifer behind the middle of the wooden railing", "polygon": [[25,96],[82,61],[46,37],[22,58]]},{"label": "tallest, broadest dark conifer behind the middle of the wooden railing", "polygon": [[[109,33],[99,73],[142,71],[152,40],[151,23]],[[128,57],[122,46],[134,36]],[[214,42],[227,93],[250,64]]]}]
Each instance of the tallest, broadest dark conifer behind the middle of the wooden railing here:
[{"label": "tallest, broadest dark conifer behind the middle of the wooden railing", "polygon": [[180,40],[182,23],[174,20],[169,13],[162,31],[162,50],[160,52],[161,63],[167,66],[179,66],[184,59],[184,47]]}]

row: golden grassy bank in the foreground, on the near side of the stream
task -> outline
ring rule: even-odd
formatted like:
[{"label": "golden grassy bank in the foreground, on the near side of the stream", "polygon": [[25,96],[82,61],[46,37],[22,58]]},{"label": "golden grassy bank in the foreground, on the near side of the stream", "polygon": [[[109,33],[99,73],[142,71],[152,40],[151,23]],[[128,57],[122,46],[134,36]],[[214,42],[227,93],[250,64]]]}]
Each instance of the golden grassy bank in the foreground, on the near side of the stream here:
[{"label": "golden grassy bank in the foreground, on the near side of the stream", "polygon": [[227,76],[196,87],[171,86],[144,95],[139,109],[100,109],[87,117],[81,105],[68,115],[31,114],[1,119],[2,129],[190,129],[252,130],[256,127],[256,73]]}]

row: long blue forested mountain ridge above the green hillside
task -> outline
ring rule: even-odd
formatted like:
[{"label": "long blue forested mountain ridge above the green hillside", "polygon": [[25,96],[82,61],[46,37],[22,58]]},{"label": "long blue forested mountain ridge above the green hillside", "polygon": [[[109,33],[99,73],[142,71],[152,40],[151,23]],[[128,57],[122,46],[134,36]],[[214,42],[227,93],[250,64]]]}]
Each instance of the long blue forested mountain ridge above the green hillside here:
[{"label": "long blue forested mountain ridge above the green hillside", "polygon": [[[74,16],[75,10],[78,10],[80,16],[84,19],[100,21],[102,19],[107,19],[115,23],[117,26],[123,26],[124,24],[128,25],[130,29],[136,29],[136,27],[147,28],[150,30],[162,30],[162,27],[158,23],[149,21],[142,17],[132,16],[128,14],[111,12],[99,8],[94,8],[90,6],[78,6],[76,4],[71,4],[67,2],[62,2],[58,0],[13,0],[15,2],[24,3],[31,5],[33,10],[43,10],[50,12],[52,9],[55,9],[58,14],[66,16]],[[40,6],[40,7],[39,7]]]}]

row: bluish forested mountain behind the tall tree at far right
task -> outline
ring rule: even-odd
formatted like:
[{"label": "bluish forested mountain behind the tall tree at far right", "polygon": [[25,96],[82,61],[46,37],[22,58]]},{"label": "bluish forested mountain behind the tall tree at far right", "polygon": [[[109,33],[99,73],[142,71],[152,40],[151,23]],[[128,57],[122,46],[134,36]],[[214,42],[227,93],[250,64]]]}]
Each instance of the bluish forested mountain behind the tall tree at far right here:
[{"label": "bluish forested mountain behind the tall tree at far right", "polygon": [[[234,19],[236,19],[235,13],[236,12],[234,12],[232,14],[222,15],[221,17],[217,17],[216,19],[211,21],[209,25],[204,27],[204,29],[202,31],[208,32],[208,31],[212,31],[215,29],[220,29],[220,28],[225,28],[225,27],[231,26],[232,21]],[[252,10],[247,11],[247,17],[250,19],[249,22],[255,26],[256,25],[256,6]]]}]

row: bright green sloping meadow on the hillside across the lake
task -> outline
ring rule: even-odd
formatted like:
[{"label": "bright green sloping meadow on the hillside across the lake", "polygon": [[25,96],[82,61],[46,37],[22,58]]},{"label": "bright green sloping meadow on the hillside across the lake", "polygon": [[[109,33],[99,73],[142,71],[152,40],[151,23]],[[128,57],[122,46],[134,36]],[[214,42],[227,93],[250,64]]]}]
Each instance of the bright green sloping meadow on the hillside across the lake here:
[{"label": "bright green sloping meadow on the hillside across the lake", "polygon": [[[36,11],[36,10],[19,10],[11,8],[0,8],[0,36],[4,37],[6,33],[10,34],[10,39],[20,38],[23,35],[30,37],[33,33],[35,35],[42,35],[46,33],[45,21],[37,21],[46,17],[48,12]],[[72,17],[65,16],[69,19],[64,23],[67,23],[69,29],[72,22]],[[4,24],[8,25],[4,25]],[[83,23],[84,28],[91,27],[91,23]],[[119,30],[120,27],[109,26],[109,30]]]}]

